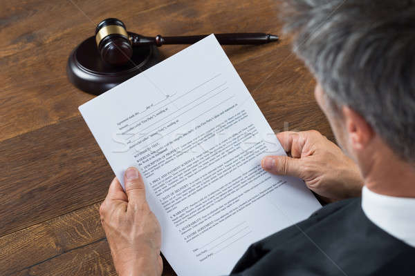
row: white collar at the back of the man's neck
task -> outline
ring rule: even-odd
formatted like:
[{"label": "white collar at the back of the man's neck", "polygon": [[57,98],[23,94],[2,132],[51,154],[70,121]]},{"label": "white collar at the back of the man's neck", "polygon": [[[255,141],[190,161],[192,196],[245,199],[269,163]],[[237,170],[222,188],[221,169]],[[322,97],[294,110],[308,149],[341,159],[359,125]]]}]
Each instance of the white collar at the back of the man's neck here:
[{"label": "white collar at the back of the man's neck", "polygon": [[380,195],[364,186],[362,209],[376,226],[415,247],[415,198]]}]

